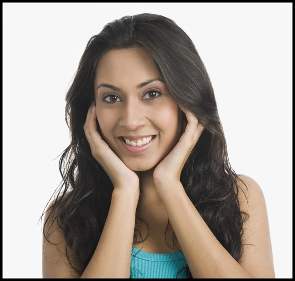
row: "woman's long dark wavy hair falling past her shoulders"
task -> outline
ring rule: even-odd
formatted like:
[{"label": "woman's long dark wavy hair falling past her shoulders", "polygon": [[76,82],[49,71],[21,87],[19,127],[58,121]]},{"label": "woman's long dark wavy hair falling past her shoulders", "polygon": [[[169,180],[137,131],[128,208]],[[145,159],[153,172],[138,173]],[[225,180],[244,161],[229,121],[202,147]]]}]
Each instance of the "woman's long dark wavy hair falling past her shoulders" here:
[{"label": "woman's long dark wavy hair falling past her shoulders", "polygon": [[[86,269],[103,231],[113,191],[110,178],[91,155],[83,129],[89,106],[95,100],[95,67],[106,52],[129,47],[143,47],[149,52],[165,81],[167,94],[205,126],[183,167],[180,181],[215,237],[237,262],[240,261],[242,226],[249,215],[240,210],[238,176],[229,163],[207,70],[194,43],[173,20],[144,13],[108,23],[89,39],[66,94],[65,120],[71,132],[71,143],[59,160],[62,185],[47,212],[51,210],[49,217],[55,214],[57,218],[69,264],[80,276]],[[59,196],[62,187],[65,188]],[[43,235],[50,242],[44,230]],[[140,230],[135,225],[134,244],[139,236]],[[68,250],[74,252],[73,260]],[[181,270],[184,269],[187,278],[192,278],[187,265]]]}]

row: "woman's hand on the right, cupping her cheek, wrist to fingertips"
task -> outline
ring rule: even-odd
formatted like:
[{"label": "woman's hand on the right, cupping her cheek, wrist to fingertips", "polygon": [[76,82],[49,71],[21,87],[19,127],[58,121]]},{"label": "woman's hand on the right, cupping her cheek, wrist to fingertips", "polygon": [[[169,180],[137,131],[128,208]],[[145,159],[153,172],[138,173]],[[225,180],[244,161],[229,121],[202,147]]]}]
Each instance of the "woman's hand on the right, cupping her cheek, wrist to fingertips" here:
[{"label": "woman's hand on the right, cupping her cheek, wrist to fingertips", "polygon": [[180,174],[184,164],[199,140],[204,126],[187,109],[178,105],[185,113],[187,125],[177,145],[155,168],[153,180],[156,187],[173,185],[180,182]]}]

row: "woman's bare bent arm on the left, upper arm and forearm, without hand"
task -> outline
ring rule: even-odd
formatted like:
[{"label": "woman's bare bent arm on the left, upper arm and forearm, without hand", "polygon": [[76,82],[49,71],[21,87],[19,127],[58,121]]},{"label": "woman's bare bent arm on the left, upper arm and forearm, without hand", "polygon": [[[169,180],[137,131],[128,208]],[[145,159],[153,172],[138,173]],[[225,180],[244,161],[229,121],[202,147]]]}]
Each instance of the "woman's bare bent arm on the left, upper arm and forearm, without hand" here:
[{"label": "woman's bare bent arm on the left, upper arm and forearm, without hand", "polygon": [[[81,277],[74,276],[70,272],[71,266],[65,257],[61,259],[59,251],[65,252],[64,242],[57,248],[44,240],[43,278],[129,278],[138,198],[137,191],[114,188],[104,229]],[[48,225],[51,225],[50,221]],[[55,223],[49,233],[57,227]],[[45,229],[46,232],[47,229]],[[63,240],[60,229],[54,231],[49,237],[49,240],[55,244]]]}]

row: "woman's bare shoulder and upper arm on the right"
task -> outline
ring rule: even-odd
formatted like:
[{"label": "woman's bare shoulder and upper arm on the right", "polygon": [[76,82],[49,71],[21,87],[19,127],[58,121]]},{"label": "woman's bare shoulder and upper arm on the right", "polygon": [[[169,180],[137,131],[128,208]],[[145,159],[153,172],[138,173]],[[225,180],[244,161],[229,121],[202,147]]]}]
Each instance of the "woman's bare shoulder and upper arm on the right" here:
[{"label": "woman's bare shoulder and upper arm on the right", "polygon": [[251,177],[238,175],[240,210],[249,218],[243,224],[239,264],[253,278],[275,278],[266,201],[262,188]]}]

